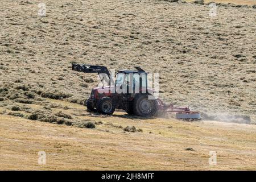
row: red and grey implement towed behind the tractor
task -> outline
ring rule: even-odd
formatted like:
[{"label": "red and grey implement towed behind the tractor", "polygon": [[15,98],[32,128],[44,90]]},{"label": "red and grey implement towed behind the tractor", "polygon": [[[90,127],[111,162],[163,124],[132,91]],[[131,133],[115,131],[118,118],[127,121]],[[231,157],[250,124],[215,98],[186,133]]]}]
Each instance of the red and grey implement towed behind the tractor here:
[{"label": "red and grey implement towed behind the tractor", "polygon": [[175,106],[173,104],[164,104],[162,100],[158,98],[158,114],[166,115],[168,113],[176,113],[177,119],[185,120],[197,120],[201,119],[201,114],[199,111],[191,111],[189,107],[185,106]]}]

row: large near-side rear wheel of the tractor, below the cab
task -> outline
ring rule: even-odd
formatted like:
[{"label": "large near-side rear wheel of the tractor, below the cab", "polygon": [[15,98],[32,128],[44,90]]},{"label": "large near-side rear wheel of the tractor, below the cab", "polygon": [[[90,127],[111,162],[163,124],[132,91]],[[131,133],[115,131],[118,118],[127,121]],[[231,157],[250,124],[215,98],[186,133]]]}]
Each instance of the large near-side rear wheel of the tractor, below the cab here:
[{"label": "large near-side rear wheel of the tractor, below the cab", "polygon": [[141,117],[152,117],[158,110],[158,103],[155,99],[148,100],[148,96],[153,97],[150,94],[138,94],[134,98],[133,112],[135,115]]}]

